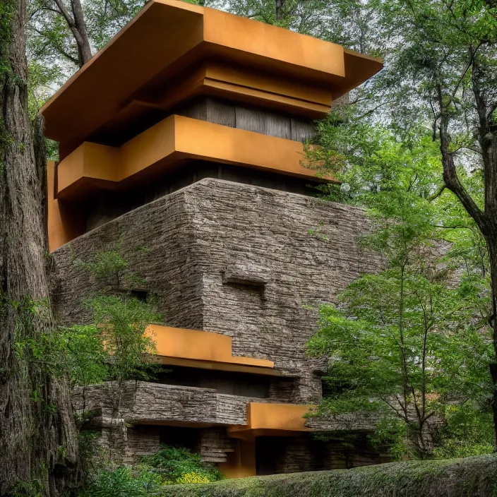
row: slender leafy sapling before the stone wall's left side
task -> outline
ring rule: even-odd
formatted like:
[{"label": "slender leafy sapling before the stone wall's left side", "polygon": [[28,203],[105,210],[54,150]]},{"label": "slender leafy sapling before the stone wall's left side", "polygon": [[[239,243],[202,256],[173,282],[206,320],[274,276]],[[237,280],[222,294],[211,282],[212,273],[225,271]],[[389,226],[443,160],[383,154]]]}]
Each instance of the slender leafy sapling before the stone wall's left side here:
[{"label": "slender leafy sapling before the stone wall's left side", "polygon": [[112,395],[119,405],[125,381],[148,380],[158,367],[155,341],[147,328],[161,316],[148,302],[122,289],[122,272],[128,263],[118,249],[97,252],[90,261],[76,264],[107,285],[104,292],[83,303],[94,323],[62,330],[69,376],[73,385],[80,386],[116,382]]}]

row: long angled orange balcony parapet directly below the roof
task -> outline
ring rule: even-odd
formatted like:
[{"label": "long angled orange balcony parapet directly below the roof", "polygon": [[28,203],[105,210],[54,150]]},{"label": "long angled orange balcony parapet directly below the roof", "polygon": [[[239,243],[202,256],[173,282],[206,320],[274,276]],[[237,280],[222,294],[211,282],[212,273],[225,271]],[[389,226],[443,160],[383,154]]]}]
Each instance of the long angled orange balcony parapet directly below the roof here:
[{"label": "long angled orange balcony parapet directly below the roof", "polygon": [[184,160],[222,162],[288,176],[319,178],[304,167],[304,145],[286,138],[169,116],[120,147],[85,141],[56,169],[56,198],[78,200],[98,190],[128,188],[172,171]]}]

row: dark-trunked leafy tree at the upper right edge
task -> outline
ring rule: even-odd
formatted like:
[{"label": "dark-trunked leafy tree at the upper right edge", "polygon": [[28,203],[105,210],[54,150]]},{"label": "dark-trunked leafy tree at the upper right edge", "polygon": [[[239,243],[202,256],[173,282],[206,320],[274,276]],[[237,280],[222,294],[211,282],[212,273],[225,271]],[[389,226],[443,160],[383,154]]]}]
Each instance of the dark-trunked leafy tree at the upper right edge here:
[{"label": "dark-trunked leafy tree at the upper right edge", "polygon": [[[496,8],[492,0],[378,2],[373,18],[385,36],[387,68],[356,112],[384,119],[406,144],[419,123],[430,129],[441,158],[439,193],[453,193],[472,220],[468,229],[478,232],[474,241],[484,241],[492,295],[486,317],[497,357]],[[489,368],[497,437],[496,364]]]}]

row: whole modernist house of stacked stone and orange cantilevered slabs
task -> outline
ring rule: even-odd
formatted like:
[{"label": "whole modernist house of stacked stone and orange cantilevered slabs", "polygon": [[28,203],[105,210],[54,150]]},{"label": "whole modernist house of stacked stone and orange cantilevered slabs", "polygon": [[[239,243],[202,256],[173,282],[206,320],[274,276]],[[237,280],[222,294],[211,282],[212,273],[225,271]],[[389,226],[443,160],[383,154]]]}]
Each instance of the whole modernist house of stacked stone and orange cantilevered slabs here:
[{"label": "whole modernist house of stacked stone and orange cantilevered slabs", "polygon": [[[381,264],[357,243],[361,210],[316,197],[333,179],[306,167],[303,143],[381,67],[337,44],[151,0],[43,107],[60,144],[48,177],[59,318],[83,323],[81,297],[101,285],[73,261],[116,246],[143,278],[128,289],[156,294],[165,316],[152,328],[171,372],[128,385],[124,460],[160,443],[200,451],[227,477],[380,460],[345,457],[313,436],[329,423],[303,417],[322,395],[324,365],[305,355],[316,305]],[[109,444],[102,385],[85,402]]]}]

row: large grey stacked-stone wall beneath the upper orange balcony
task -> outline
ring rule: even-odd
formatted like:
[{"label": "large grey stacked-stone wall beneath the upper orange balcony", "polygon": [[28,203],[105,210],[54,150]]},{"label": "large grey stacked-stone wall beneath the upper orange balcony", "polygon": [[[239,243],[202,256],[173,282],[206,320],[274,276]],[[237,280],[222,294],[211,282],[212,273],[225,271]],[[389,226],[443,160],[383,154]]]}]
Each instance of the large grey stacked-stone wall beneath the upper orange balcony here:
[{"label": "large grey stacked-stone wall beneath the upper orange balcony", "polygon": [[81,299],[101,283],[77,261],[119,248],[126,271],[157,293],[167,325],[233,337],[235,355],[270,359],[297,378],[287,402],[317,402],[323,365],[305,357],[306,340],[316,306],[381,268],[358,244],[368,227],[347,205],[203,179],[55,251],[54,304],[62,322],[87,321]]}]

